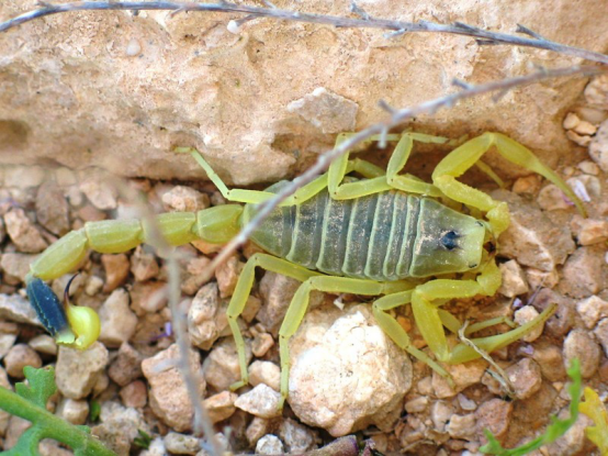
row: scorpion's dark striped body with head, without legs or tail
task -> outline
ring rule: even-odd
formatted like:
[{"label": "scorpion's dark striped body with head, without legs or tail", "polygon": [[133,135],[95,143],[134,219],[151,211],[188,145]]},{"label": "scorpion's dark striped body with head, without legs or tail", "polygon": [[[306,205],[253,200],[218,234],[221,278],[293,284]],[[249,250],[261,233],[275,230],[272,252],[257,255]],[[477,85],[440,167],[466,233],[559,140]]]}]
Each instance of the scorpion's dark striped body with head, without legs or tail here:
[{"label": "scorpion's dark striped body with head, without legs or tail", "polygon": [[[247,204],[244,223],[252,213],[255,205]],[[324,190],[302,204],[274,210],[251,240],[307,269],[395,281],[477,267],[485,232],[478,220],[434,199],[384,191],[340,201]]]}]

